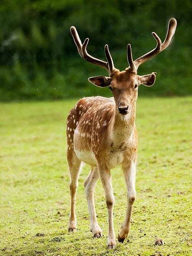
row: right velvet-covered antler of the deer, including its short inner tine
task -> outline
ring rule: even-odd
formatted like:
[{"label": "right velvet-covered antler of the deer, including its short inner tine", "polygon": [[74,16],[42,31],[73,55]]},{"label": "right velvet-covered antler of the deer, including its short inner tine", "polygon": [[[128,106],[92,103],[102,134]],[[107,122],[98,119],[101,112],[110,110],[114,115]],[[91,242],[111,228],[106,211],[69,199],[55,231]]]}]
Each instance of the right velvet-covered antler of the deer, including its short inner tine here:
[{"label": "right velvet-covered antler of the deer, including its short inner tine", "polygon": [[177,27],[177,21],[175,20],[175,18],[171,18],[169,20],[169,25],[168,25],[168,28],[167,28],[166,39],[164,40],[163,43],[161,43],[161,39],[158,37],[158,35],[155,32],[152,32],[152,35],[154,36],[155,40],[157,41],[156,48],[151,50],[151,52],[148,52],[148,53],[142,55],[141,57],[137,58],[135,61],[133,61],[133,59],[132,59],[131,45],[129,44],[127,46],[127,60],[129,62],[130,69],[132,71],[136,72],[138,67],[142,63],[146,62],[147,60],[151,59],[152,57],[154,57],[158,53],[165,50],[170,44],[171,38],[173,37],[173,35],[175,33],[176,27]]}]

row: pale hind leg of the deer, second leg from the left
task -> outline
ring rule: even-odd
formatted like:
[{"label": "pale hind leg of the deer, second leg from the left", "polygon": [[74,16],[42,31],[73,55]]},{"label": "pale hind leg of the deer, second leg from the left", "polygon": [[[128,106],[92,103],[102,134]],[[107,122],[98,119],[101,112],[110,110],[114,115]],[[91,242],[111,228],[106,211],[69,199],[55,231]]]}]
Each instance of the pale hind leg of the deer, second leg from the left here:
[{"label": "pale hind leg of the deer, second leg from the left", "polygon": [[91,166],[91,171],[84,181],[85,194],[87,198],[89,215],[90,215],[90,228],[93,233],[93,237],[100,238],[102,237],[102,230],[98,225],[95,204],[94,204],[94,190],[99,180],[99,172],[96,166]]}]

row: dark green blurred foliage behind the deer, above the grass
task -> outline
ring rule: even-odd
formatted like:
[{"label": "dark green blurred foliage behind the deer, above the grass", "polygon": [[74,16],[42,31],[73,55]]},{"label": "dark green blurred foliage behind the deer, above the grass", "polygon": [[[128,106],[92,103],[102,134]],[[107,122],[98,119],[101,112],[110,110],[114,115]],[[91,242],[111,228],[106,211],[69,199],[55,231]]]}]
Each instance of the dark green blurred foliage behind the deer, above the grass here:
[{"label": "dark green blurred foliage behind the deer, above the grass", "polygon": [[152,88],[140,86],[142,96],[192,94],[191,0],[1,0],[0,101],[55,100],[111,95],[88,82],[108,75],[78,54],[70,34],[77,28],[88,52],[105,60],[109,45],[114,65],[127,66],[126,48],[133,58],[152,50],[156,32],[162,42],[169,19],[177,19],[171,45],[139,67],[138,74],[157,72]]}]

